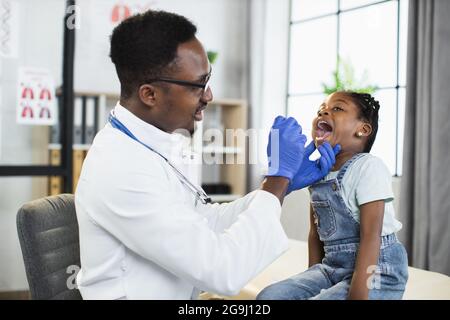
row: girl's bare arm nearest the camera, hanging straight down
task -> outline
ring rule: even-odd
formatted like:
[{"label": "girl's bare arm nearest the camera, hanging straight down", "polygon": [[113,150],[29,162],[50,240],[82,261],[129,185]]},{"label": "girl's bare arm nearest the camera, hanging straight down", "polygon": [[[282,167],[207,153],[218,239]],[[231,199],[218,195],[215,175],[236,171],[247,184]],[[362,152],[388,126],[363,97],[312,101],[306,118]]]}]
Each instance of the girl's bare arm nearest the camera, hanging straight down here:
[{"label": "girl's bare arm nearest the camera, hanging straight down", "polygon": [[371,280],[369,278],[376,276],[374,272],[380,253],[384,201],[365,203],[359,209],[361,217],[360,244],[348,294],[348,299],[352,300],[369,298],[368,284]]}]

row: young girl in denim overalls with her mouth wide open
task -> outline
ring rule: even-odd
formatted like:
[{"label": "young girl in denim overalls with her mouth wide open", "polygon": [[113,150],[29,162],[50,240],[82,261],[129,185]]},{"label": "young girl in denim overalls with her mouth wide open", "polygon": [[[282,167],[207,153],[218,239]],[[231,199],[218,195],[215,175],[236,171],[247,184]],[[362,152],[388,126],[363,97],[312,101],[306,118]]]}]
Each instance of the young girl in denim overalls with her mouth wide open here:
[{"label": "young girl in denim overalls with her mouth wide open", "polygon": [[309,269],[257,299],[401,299],[408,261],[396,232],[391,174],[370,155],[380,105],[369,94],[335,92],[313,121],[316,145],[341,145],[336,164],[312,185]]}]

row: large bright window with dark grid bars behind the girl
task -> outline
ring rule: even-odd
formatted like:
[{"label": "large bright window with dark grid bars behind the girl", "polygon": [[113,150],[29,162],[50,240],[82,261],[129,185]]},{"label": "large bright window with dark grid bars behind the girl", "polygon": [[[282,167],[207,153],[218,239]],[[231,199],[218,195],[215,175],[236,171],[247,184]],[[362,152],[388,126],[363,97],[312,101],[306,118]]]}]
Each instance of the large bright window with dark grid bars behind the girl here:
[{"label": "large bright window with dark grid bars behind the girl", "polygon": [[338,59],[377,86],[379,128],[371,153],[401,175],[406,85],[407,0],[291,0],[287,114],[311,123]]}]

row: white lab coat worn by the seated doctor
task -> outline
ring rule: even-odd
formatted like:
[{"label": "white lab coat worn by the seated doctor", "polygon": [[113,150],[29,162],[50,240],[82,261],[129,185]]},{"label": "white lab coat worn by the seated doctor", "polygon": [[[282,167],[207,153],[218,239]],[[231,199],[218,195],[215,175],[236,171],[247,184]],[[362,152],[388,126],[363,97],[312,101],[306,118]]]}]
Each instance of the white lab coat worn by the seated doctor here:
[{"label": "white lab coat worn by the seated doctor", "polygon": [[[120,105],[116,117],[180,163],[182,137]],[[278,199],[254,191],[228,204],[196,203],[172,168],[109,124],[95,137],[78,182],[84,299],[191,299],[237,294],[288,247]]]}]

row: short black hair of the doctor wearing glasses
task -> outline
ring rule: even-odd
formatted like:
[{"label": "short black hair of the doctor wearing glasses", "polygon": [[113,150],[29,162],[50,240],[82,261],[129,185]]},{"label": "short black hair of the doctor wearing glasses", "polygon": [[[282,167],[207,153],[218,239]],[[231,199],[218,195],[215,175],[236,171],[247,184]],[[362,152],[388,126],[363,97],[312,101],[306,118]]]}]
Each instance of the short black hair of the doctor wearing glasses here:
[{"label": "short black hair of the doctor wearing glasses", "polygon": [[123,98],[146,80],[164,76],[178,45],[195,37],[197,27],[183,16],[148,10],[122,21],[111,35],[110,57]]}]

